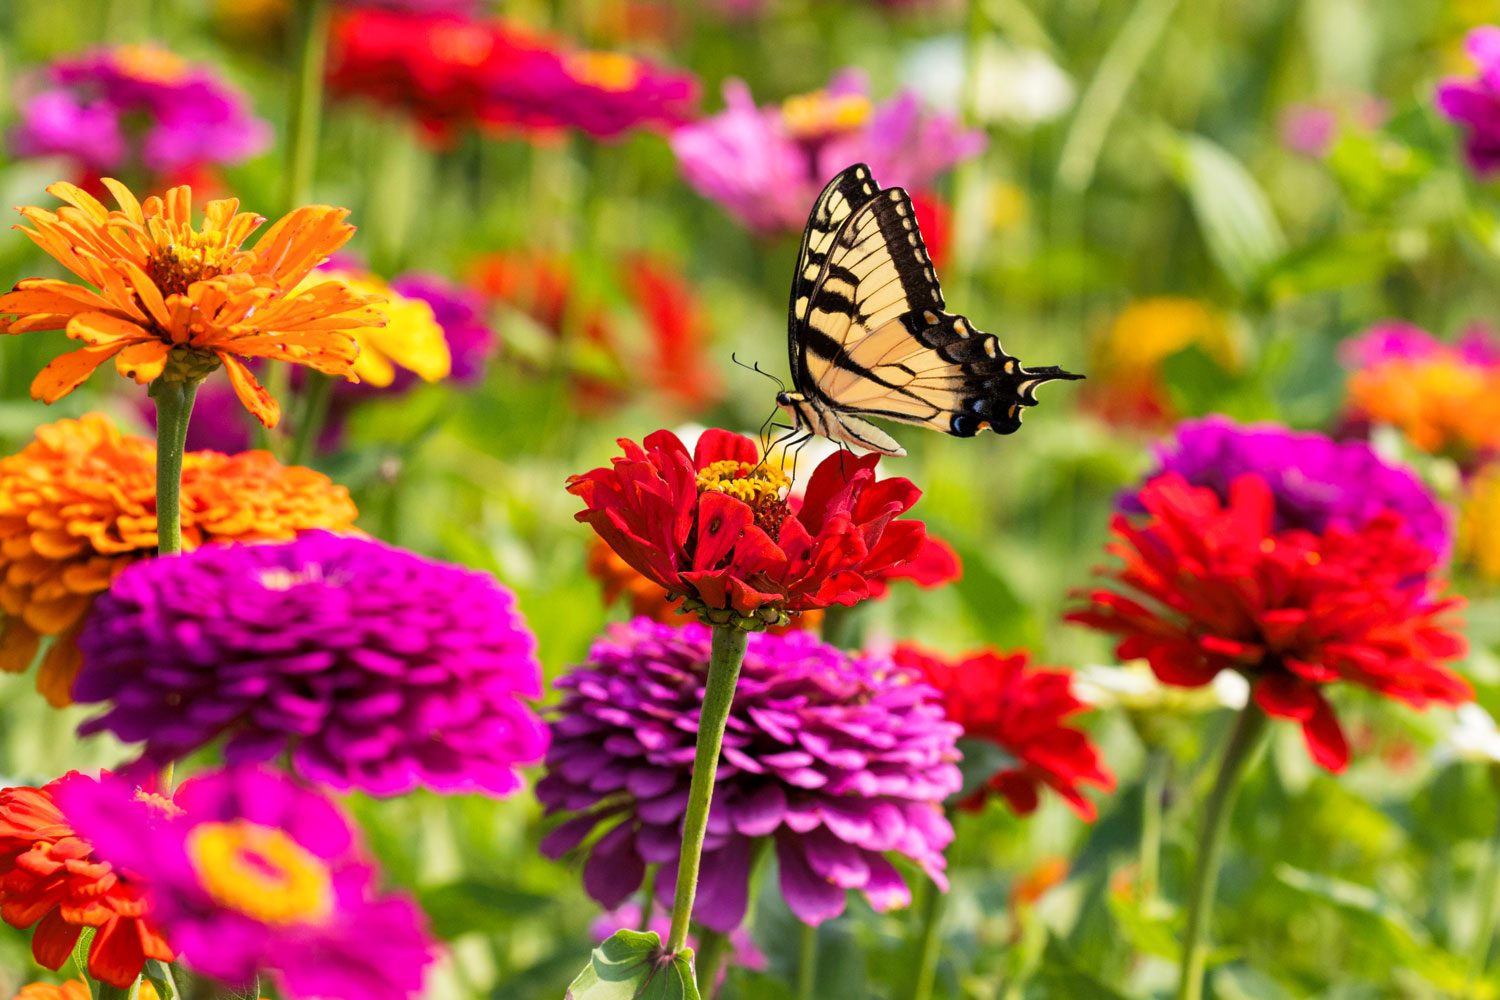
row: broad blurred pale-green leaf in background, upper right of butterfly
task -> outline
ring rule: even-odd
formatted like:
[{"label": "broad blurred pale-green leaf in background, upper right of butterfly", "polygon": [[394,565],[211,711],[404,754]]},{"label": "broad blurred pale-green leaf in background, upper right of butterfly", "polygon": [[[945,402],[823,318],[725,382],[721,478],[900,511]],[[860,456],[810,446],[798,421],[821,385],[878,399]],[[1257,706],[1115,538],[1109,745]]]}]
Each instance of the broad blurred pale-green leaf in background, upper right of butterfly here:
[{"label": "broad blurred pale-green leaf in background, upper right of butterfly", "polygon": [[1174,136],[1167,166],[1192,204],[1214,262],[1242,292],[1258,288],[1286,255],[1287,237],[1256,178],[1221,145],[1198,135]]}]

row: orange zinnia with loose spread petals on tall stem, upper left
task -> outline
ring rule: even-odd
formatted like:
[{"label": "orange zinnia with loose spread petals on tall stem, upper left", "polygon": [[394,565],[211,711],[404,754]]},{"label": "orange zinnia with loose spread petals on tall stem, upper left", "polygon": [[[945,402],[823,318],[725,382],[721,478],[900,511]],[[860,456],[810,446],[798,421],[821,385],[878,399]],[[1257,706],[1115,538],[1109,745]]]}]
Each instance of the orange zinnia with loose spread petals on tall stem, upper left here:
[{"label": "orange zinnia with loose spread petals on tall stem, upper left", "polygon": [[192,190],[135,199],[111,178],[114,211],[82,189],[46,190],[68,202],[57,211],[21,208],[34,228],[18,226],[78,277],[24,280],[0,295],[0,331],[64,330],[86,346],[70,351],[32,382],[32,397],[56,402],[114,358],[126,378],[194,381],[224,364],[244,408],[267,427],[280,418],[242,358],[274,358],[352,379],[358,346],[350,330],[378,327],[370,297],[342,282],[297,289],[344,246],[354,226],[344,208],[308,205],[244,241],[266,219],[238,211],[238,199],[210,201],[204,223],[192,222]]}]

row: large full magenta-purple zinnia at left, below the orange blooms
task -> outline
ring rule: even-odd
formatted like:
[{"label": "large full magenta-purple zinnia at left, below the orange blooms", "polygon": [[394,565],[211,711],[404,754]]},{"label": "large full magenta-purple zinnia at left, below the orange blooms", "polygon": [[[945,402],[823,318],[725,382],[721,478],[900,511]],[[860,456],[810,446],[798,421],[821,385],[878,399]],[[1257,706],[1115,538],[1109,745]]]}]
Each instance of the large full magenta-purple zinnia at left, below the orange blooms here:
[{"label": "large full magenta-purple zinnia at left, below the orange blooms", "polygon": [[78,637],[82,733],[160,766],[228,736],[230,763],[399,795],[519,787],[546,750],[525,699],[536,640],[490,577],[380,541],[309,532],[207,546],[116,577]]}]

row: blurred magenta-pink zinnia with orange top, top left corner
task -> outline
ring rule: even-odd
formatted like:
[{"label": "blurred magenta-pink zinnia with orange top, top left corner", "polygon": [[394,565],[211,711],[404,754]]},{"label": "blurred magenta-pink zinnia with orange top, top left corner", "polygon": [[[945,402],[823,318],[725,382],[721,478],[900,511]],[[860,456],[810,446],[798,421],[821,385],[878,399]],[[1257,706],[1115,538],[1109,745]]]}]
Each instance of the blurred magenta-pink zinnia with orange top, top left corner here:
[{"label": "blurred magenta-pink zinnia with orange top, top left corner", "polygon": [[156,45],[116,45],[62,58],[21,105],[16,156],[66,156],[88,174],[147,169],[168,177],[237,163],[272,141],[244,94]]}]

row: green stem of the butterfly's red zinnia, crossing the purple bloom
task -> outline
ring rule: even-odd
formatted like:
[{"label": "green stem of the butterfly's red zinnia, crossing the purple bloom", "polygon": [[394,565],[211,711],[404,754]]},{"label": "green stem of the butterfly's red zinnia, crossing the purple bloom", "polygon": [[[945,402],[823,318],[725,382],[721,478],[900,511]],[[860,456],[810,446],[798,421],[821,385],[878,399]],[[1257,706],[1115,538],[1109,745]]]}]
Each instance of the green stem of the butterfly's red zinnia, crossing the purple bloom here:
[{"label": "green stem of the butterfly's red zinnia, crossing the purple bloom", "polygon": [[714,627],[704,708],[698,717],[693,781],[687,790],[687,816],[682,820],[682,852],[676,862],[676,895],[672,900],[672,933],[666,939],[668,954],[680,952],[687,945],[687,928],[693,919],[693,898],[698,895],[698,867],[704,861],[708,807],[714,798],[714,775],[718,772],[718,751],[724,744],[729,705],[735,699],[740,664],[744,663],[748,640],[750,634],[742,628]]}]

